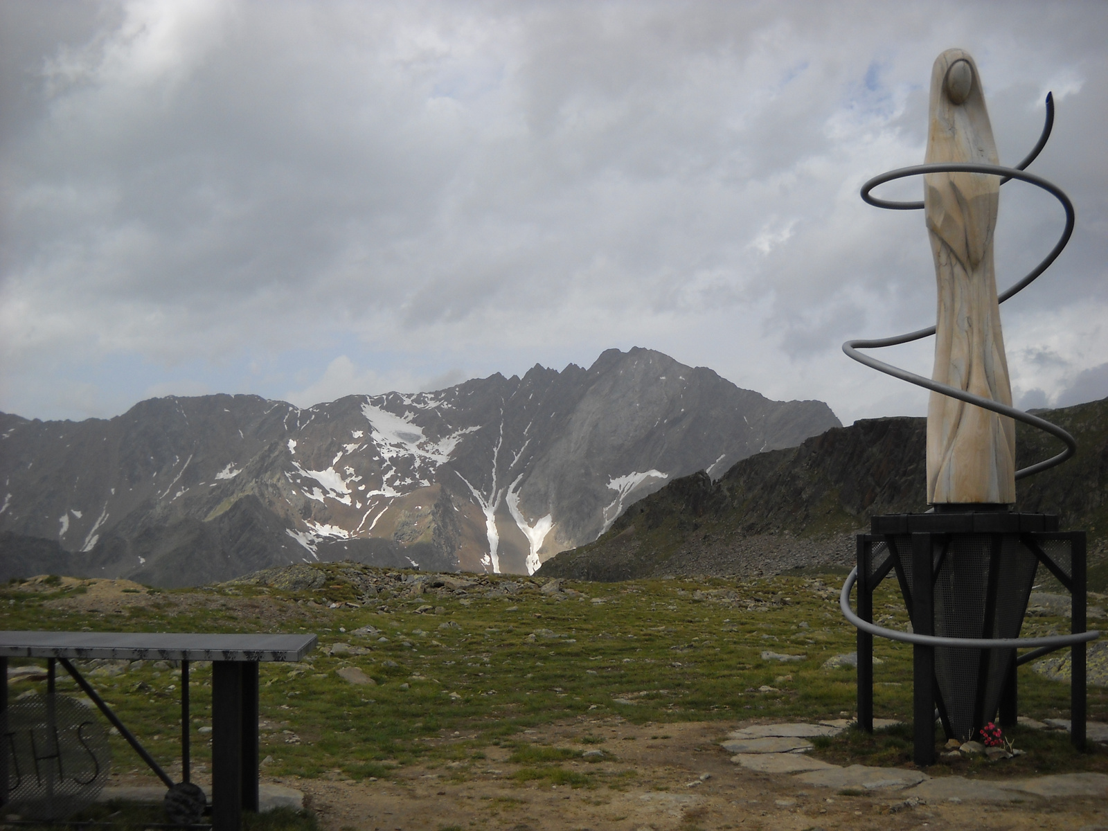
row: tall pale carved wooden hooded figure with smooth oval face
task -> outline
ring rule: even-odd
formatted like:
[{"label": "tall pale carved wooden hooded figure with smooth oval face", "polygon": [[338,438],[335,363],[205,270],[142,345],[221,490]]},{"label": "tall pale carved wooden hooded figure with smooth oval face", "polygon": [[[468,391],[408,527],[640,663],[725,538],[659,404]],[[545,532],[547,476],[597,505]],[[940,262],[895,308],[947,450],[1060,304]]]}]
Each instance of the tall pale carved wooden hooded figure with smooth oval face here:
[{"label": "tall pale carved wooden hooded figure with smooth oval face", "polygon": [[[961,49],[943,52],[932,69],[926,162],[998,164],[981,75]],[[1010,404],[993,269],[999,191],[995,175],[924,177],[924,213],[938,284],[932,378]],[[1015,458],[1010,418],[931,393],[929,503],[1014,503]]]}]

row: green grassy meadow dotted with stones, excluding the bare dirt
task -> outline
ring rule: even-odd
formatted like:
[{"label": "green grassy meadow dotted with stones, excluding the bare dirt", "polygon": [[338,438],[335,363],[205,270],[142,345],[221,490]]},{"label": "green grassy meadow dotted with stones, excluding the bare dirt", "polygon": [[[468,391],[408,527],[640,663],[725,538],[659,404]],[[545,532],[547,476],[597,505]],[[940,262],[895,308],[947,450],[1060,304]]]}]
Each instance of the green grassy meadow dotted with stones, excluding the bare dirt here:
[{"label": "green grassy meadow dotted with stones, excluding the bare dirt", "polygon": [[[603,774],[587,765],[604,757],[606,738],[584,736],[573,747],[529,740],[529,730],[581,715],[618,716],[653,725],[657,738],[677,721],[824,719],[854,712],[854,670],[823,669],[832,655],[854,648],[854,632],[838,608],[840,576],[814,574],[758,581],[727,578],[563,585],[545,594],[516,578],[490,578],[464,596],[382,593],[358,607],[342,576],[350,564],[319,566],[325,585],[306,593],[257,586],[188,591],[123,588],[112,599],[88,582],[11,584],[0,591],[0,628],[131,632],[314,632],[320,650],[296,665],[263,664],[261,757],[267,776],[370,779],[421,765],[444,780],[465,776],[493,749],[517,767],[521,782],[620,788],[634,771]],[[361,566],[356,566],[361,568]],[[503,589],[500,589],[503,591]],[[95,596],[94,596],[95,595]],[[386,596],[391,595],[391,596]],[[492,595],[492,596],[489,596]],[[334,603],[342,603],[329,608]],[[423,607],[422,613],[417,609]],[[875,596],[875,618],[903,627],[906,617],[892,582]],[[361,627],[377,632],[356,635]],[[1063,618],[1034,618],[1025,634],[1068,628]],[[336,643],[353,652],[326,654]],[[763,659],[762,652],[803,656]],[[879,640],[875,709],[909,720],[911,647]],[[20,661],[13,661],[18,665]],[[29,663],[29,661],[28,661]],[[336,675],[357,666],[373,686]],[[165,663],[90,667],[94,687],[161,763],[179,770],[179,670]],[[59,676],[61,691],[76,691]],[[211,665],[195,664],[194,763],[209,763]],[[1020,714],[1067,717],[1069,689],[1028,667],[1019,670]],[[41,681],[13,681],[16,698]],[[1108,690],[1089,689],[1089,718],[1108,720]],[[652,737],[653,738],[653,737]],[[848,735],[818,752],[837,761],[907,763],[910,736]],[[1050,743],[1053,742],[1053,743]],[[1054,745],[1058,745],[1055,748]],[[1073,756],[1065,737],[1017,736],[1017,747],[1050,770],[1108,770],[1106,756]],[[116,770],[141,762],[113,737]],[[564,766],[566,760],[581,763]],[[871,763],[872,763],[871,761]]]}]

